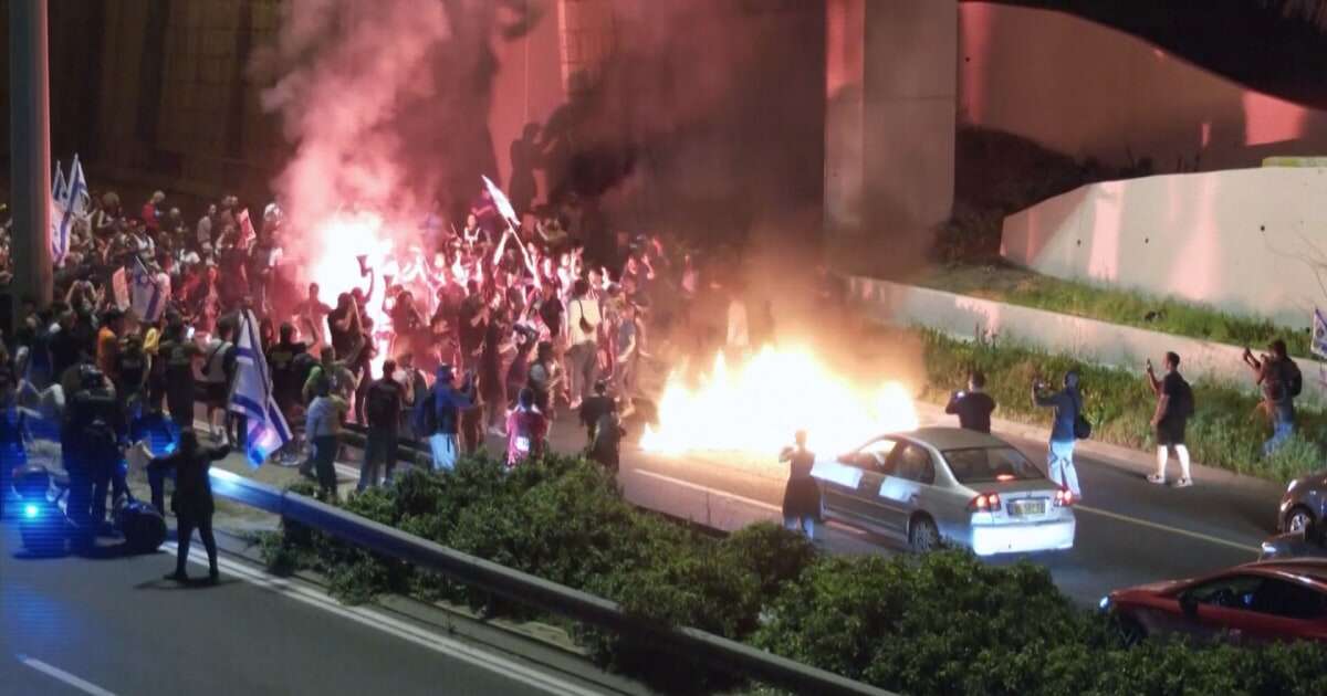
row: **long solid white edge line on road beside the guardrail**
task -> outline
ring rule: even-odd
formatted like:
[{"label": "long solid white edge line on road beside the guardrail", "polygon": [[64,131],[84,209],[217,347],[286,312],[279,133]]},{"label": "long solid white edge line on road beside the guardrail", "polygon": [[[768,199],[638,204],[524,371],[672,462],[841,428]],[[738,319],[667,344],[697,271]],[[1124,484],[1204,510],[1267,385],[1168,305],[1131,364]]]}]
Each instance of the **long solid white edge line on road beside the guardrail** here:
[{"label": "long solid white edge line on road beside the guardrail", "polygon": [[[170,553],[178,553],[178,546],[175,542],[167,542],[162,545]],[[200,550],[190,550],[188,559],[196,565],[207,566],[207,555]],[[353,620],[362,626],[382,631],[385,634],[394,635],[402,640],[407,640],[417,646],[433,650],[434,652],[441,652],[443,655],[450,655],[462,662],[470,663],[475,667],[486,669],[488,672],[499,673],[518,681],[522,681],[536,689],[541,689],[549,693],[567,693],[567,695],[585,695],[585,693],[598,693],[596,691],[588,689],[584,685],[575,684],[553,675],[540,672],[519,662],[503,658],[500,655],[484,652],[460,640],[437,635],[431,631],[421,628],[418,626],[411,626],[406,622],[395,619],[393,616],[385,615],[380,611],[374,611],[366,607],[349,607],[338,603],[336,599],[328,597],[325,593],[304,587],[289,581],[271,577],[260,570],[255,570],[244,566],[230,558],[219,558],[218,565],[231,575],[238,575],[240,579],[263,587],[265,590],[273,591],[283,597],[304,602],[305,605],[321,609],[324,611],[336,614],[344,619]]]}]

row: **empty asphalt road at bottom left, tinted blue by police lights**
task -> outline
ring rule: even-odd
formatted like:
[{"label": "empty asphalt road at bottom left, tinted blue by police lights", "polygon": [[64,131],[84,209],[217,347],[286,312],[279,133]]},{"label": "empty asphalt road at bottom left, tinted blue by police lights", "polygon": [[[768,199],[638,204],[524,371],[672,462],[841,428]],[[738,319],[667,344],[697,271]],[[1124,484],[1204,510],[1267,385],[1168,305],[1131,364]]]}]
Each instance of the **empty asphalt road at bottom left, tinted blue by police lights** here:
[{"label": "empty asphalt road at bottom left, tinted blue by police lights", "polygon": [[180,587],[161,579],[173,548],[104,555],[29,558],[15,522],[0,525],[0,693],[598,692],[244,562],[224,561],[219,586]]}]

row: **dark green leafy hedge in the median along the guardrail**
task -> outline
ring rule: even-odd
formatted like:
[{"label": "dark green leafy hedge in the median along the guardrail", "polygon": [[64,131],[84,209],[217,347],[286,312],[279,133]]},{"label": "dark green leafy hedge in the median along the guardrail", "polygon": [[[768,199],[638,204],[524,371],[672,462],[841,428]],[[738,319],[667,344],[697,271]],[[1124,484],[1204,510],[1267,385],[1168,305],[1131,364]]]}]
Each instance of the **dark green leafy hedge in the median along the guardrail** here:
[{"label": "dark green leafy hedge in the median along the guardrail", "polygon": [[[772,524],[701,536],[633,508],[610,477],[577,459],[547,457],[512,473],[496,460],[462,459],[454,472],[411,471],[345,506],[606,597],[645,620],[703,628],[904,693],[1308,695],[1323,693],[1319,675],[1327,675],[1315,646],[1125,650],[1108,619],[1076,609],[1046,569],[1027,562],[993,567],[957,550],[827,557]],[[275,570],[322,573],[348,602],[399,593],[535,615],[296,524],[265,538],[264,553]],[[650,643],[573,632],[601,664],[664,692],[742,687]]]}]

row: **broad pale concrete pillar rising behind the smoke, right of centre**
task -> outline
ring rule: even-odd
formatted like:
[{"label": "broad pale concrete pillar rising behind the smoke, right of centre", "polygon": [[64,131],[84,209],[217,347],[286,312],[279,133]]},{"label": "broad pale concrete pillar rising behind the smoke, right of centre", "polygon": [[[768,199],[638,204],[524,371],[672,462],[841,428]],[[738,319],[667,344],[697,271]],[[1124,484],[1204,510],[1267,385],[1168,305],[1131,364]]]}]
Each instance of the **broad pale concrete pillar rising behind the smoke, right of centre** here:
[{"label": "broad pale concrete pillar rising behind the smoke, right of centre", "polygon": [[954,203],[958,3],[825,8],[825,231],[910,256]]}]

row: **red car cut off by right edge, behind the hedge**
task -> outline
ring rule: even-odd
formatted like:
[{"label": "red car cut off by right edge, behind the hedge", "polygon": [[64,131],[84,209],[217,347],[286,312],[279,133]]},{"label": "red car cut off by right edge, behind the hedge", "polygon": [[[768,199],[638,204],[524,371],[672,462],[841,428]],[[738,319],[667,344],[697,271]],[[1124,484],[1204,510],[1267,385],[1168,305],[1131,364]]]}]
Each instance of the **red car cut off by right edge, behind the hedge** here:
[{"label": "red car cut off by right edge, behind the hedge", "polygon": [[1327,642],[1327,559],[1235,566],[1204,578],[1116,590],[1101,609],[1131,640],[1182,634],[1235,643]]}]

